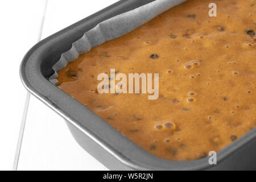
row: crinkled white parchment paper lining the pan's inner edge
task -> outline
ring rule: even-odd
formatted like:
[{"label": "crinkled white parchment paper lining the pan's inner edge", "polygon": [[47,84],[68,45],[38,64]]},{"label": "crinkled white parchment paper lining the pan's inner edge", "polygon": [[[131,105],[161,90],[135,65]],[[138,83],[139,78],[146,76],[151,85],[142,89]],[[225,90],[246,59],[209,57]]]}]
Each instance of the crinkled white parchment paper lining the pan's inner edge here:
[{"label": "crinkled white parchment paper lining the pan's inner edge", "polygon": [[56,85],[57,71],[65,68],[69,62],[75,61],[82,53],[89,52],[93,47],[135,30],[155,16],[184,1],[186,0],[156,0],[97,24],[96,27],[85,32],[81,39],[74,42],[69,51],[61,54],[60,59],[52,67],[55,73],[49,77],[49,81]]}]

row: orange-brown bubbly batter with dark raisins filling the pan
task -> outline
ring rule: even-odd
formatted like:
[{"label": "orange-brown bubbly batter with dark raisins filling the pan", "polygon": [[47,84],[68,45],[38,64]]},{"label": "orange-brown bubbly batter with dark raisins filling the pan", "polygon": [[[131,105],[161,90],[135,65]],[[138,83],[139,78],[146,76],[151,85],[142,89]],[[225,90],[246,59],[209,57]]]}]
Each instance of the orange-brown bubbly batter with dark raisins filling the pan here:
[{"label": "orange-brown bubbly batter with dark raisins filling the pan", "polygon": [[[208,5],[217,5],[217,17]],[[187,1],[80,55],[58,86],[151,154],[203,158],[256,125],[255,1]],[[159,97],[99,94],[100,73],[159,73]],[[102,131],[104,132],[104,131]]]}]

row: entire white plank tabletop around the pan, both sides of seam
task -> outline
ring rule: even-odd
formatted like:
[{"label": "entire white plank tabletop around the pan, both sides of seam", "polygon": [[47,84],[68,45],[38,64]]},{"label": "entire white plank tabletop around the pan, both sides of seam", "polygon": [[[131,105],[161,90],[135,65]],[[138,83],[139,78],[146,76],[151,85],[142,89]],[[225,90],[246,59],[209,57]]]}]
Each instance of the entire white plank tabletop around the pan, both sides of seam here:
[{"label": "entire white plank tabletop around the pan, both sides of seam", "polygon": [[[24,54],[41,38],[114,2],[117,0],[1,1],[0,170],[13,169],[26,109],[27,91],[19,78]],[[107,169],[75,142],[64,120],[34,96],[30,97],[25,121],[19,160],[16,161],[18,170]]]}]

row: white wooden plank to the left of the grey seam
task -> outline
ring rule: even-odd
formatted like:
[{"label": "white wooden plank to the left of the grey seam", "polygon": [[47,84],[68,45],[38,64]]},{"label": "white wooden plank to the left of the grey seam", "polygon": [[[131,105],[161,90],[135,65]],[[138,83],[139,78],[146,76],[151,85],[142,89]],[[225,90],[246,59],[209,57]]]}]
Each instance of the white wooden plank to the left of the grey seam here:
[{"label": "white wooden plank to the left of the grey seam", "polygon": [[26,90],[19,78],[24,54],[38,41],[44,1],[1,1],[0,170],[13,167]]}]

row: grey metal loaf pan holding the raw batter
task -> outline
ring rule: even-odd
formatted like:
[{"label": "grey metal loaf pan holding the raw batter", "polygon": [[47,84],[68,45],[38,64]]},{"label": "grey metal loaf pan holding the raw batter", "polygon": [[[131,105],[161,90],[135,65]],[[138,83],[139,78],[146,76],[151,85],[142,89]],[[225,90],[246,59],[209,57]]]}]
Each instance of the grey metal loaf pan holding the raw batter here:
[{"label": "grey metal loaf pan holding the raw batter", "polygon": [[217,152],[217,165],[208,158],[172,161],[144,151],[112,126],[48,81],[52,65],[61,53],[84,32],[112,16],[133,10],[152,0],[118,1],[96,14],[82,19],[42,40],[27,52],[20,65],[20,77],[26,89],[65,119],[81,147],[109,169],[205,170],[256,169],[256,129]]}]

